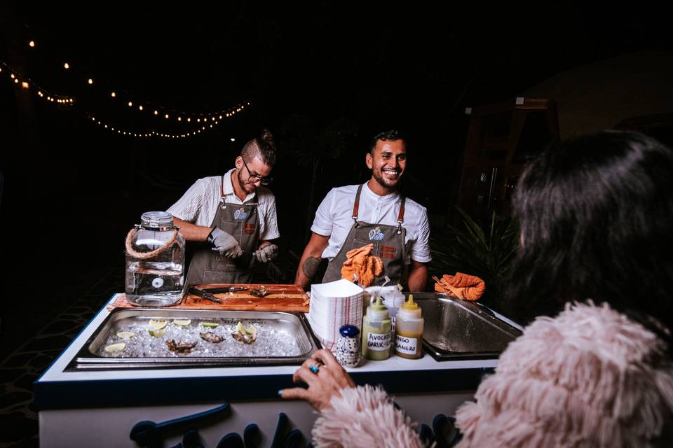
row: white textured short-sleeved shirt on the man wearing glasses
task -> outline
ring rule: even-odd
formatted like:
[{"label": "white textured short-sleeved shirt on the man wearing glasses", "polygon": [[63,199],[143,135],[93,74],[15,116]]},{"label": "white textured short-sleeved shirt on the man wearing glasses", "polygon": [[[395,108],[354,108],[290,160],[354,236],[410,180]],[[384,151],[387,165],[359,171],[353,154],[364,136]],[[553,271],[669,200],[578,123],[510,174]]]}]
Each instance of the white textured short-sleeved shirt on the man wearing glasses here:
[{"label": "white textured short-sleeved shirt on the man wearing glasses", "polygon": [[[224,174],[224,194],[226,202],[231,204],[245,204],[251,202],[255,193],[250,193],[241,201],[233,193],[231,183],[233,168]],[[196,225],[210,227],[215,219],[217,207],[219,207],[220,187],[222,176],[210,176],[198,179],[182,197],[170,206],[168,213],[176,218]],[[276,197],[271,190],[264,187],[257,188],[257,216],[259,216],[259,239],[268,240],[280,237],[278,232],[278,218],[276,218]]]}]

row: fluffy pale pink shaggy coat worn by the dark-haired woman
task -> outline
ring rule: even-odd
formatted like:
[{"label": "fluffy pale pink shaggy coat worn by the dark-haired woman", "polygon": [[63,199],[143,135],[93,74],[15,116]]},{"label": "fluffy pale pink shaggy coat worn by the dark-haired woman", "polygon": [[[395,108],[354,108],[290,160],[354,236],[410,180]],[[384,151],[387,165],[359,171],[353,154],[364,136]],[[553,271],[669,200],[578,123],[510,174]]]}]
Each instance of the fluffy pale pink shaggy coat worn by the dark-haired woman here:
[{"label": "fluffy pale pink shaggy coat worn by the dark-haired woman", "polygon": [[[456,412],[459,447],[673,446],[664,344],[607,305],[569,304],[537,318],[475,398]],[[423,446],[381,388],[344,389],[332,406],[315,421],[316,447]]]}]

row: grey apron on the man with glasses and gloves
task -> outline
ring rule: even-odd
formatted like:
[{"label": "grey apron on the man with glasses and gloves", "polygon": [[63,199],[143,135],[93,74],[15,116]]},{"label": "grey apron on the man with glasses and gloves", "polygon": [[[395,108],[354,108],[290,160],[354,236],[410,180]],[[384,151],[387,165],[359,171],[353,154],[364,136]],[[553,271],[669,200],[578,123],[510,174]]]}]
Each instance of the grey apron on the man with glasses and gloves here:
[{"label": "grey apron on the man with glasses and gloves", "polygon": [[212,245],[203,244],[196,250],[189,265],[187,285],[199,283],[251,283],[252,268],[250,260],[252,253],[259,245],[259,217],[257,216],[257,199],[246,204],[232,204],[226,202],[224,194],[224,176],[222,176],[221,203],[217,207],[215,218],[210,227],[219,227],[236,238],[238,245],[243,249],[243,255],[238,258],[220,255],[212,250]]}]

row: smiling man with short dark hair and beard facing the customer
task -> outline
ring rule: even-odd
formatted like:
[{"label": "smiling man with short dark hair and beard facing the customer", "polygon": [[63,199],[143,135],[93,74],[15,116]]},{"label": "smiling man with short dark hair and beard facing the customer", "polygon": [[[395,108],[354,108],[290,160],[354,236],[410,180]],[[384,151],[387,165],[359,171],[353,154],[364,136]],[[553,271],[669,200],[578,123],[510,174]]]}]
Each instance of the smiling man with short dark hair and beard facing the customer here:
[{"label": "smiling man with short dark hair and beard facing the customer", "polygon": [[430,225],[425,207],[400,195],[407,167],[407,143],[397,131],[381,132],[372,139],[365,163],[372,178],[362,185],[332,188],[315,212],[311,239],[299,260],[294,283],[305,288],[318,272],[322,258],[329,263],[322,283],[341,279],[346,253],[374,244],[372,255],[383,260],[385,276],[424,290],[428,280]]}]

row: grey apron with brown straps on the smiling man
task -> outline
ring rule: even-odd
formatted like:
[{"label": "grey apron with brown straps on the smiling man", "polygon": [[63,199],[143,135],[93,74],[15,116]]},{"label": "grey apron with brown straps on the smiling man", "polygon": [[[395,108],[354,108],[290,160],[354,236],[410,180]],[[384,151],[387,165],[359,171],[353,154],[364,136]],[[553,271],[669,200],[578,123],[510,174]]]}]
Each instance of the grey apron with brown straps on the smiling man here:
[{"label": "grey apron with brown straps on the smiling man", "polygon": [[[358,208],[360,207],[360,192],[362,186],[358,187],[358,193],[355,195],[355,204],[353,204],[353,227],[348,232],[346,241],[341,246],[337,256],[327,265],[325,276],[322,277],[322,283],[341,279],[341,267],[346,261],[346,253],[351,249],[367,246],[374,243],[374,250],[371,255],[381,257],[383,260],[383,275],[374,277],[372,286],[380,286],[386,281],[386,275],[390,277],[390,284],[406,282],[403,278],[405,274],[405,240],[407,230],[402,227],[405,221],[405,197],[402,196],[400,202],[400,213],[397,214],[397,225],[369,224],[358,221]],[[353,280],[353,279],[348,279]]]}]

